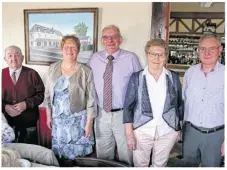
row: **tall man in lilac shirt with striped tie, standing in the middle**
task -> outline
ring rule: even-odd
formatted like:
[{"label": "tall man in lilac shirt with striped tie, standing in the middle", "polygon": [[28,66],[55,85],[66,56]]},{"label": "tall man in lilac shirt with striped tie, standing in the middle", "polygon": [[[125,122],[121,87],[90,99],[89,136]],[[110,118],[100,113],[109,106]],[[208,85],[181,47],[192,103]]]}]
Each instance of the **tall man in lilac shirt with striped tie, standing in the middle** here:
[{"label": "tall man in lilac shirt with striped tie, standing in the middle", "polygon": [[123,125],[123,104],[129,78],[141,70],[137,56],[120,49],[123,38],[115,25],[102,30],[103,51],[94,53],[88,62],[94,75],[98,116],[95,119],[97,157],[113,160],[115,147],[119,160],[132,165]]}]

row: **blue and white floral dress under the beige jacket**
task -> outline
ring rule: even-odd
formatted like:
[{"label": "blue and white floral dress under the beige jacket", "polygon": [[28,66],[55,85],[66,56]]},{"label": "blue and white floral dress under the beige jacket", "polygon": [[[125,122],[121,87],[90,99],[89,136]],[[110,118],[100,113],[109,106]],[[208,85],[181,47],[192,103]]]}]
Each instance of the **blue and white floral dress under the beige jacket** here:
[{"label": "blue and white floral dress under the beige jacket", "polygon": [[[80,97],[78,96],[78,100]],[[74,159],[92,152],[93,136],[85,138],[86,110],[71,113],[69,77],[61,76],[54,87],[52,150],[60,158]]]}]

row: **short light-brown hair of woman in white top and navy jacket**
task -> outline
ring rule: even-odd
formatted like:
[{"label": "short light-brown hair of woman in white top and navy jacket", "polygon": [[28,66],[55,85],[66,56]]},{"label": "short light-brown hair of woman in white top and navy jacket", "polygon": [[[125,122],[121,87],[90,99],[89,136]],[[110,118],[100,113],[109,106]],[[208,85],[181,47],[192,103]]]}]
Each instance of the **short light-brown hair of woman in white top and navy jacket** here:
[{"label": "short light-brown hair of woman in white top and navy jacket", "polygon": [[165,55],[166,57],[168,57],[169,55],[169,49],[168,49],[168,45],[166,43],[165,40],[163,39],[153,39],[153,40],[149,40],[145,46],[145,53],[147,54],[148,53],[148,50],[150,47],[155,47],[155,46],[158,46],[158,47],[162,47],[165,49]]}]

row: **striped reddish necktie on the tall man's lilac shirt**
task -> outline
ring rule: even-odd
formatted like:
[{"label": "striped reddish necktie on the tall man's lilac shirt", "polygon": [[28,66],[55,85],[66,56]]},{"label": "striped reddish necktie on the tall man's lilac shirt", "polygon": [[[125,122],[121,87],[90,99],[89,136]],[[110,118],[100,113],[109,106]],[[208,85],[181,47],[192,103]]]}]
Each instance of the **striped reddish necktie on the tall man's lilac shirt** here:
[{"label": "striped reddish necktie on the tall man's lilac shirt", "polygon": [[103,89],[103,109],[110,112],[112,109],[112,73],[113,73],[113,59],[112,55],[108,57],[108,63],[104,72],[104,89]]}]

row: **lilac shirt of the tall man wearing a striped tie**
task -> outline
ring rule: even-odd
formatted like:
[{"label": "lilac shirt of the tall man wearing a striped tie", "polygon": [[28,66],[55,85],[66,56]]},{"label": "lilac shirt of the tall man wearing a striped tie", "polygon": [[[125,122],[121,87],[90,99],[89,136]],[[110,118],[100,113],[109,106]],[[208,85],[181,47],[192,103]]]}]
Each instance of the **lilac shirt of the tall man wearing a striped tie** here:
[{"label": "lilac shirt of the tall man wearing a striped tie", "polygon": [[[128,87],[130,76],[133,72],[141,70],[137,56],[129,51],[119,49],[112,54],[113,75],[112,75],[112,108],[123,108],[125,93]],[[88,65],[91,67],[94,76],[95,89],[97,93],[97,103],[103,108],[103,74],[108,63],[108,53],[104,51],[94,53]]]}]

